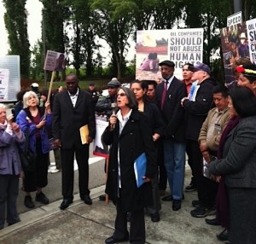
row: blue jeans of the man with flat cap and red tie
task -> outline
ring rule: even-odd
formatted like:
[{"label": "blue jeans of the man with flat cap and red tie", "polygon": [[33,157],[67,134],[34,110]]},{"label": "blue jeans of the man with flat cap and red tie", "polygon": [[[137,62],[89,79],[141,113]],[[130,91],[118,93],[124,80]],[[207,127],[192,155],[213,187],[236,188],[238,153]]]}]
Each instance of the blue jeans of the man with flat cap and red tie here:
[{"label": "blue jeans of the man with flat cap and red tie", "polygon": [[174,200],[182,200],[186,144],[173,142],[171,139],[163,140],[166,174]]}]

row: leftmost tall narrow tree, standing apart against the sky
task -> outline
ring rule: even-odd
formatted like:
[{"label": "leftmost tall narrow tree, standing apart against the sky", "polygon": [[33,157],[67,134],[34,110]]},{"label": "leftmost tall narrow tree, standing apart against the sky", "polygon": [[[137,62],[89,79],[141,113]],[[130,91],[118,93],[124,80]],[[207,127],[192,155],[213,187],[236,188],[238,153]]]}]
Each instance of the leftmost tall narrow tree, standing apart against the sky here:
[{"label": "leftmost tall narrow tree, standing apart against the sky", "polygon": [[5,27],[8,31],[9,55],[20,55],[20,74],[28,78],[30,67],[30,44],[27,35],[26,0],[3,0],[6,13]]}]

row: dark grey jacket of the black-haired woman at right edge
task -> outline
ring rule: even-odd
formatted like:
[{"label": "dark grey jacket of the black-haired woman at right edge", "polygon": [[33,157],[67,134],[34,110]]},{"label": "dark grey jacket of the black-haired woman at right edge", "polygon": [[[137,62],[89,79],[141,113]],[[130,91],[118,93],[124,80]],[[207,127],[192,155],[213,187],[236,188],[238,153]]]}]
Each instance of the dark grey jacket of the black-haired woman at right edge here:
[{"label": "dark grey jacket of the black-haired woman at right edge", "polygon": [[223,159],[208,165],[230,188],[256,188],[256,116],[241,119],[226,137]]}]

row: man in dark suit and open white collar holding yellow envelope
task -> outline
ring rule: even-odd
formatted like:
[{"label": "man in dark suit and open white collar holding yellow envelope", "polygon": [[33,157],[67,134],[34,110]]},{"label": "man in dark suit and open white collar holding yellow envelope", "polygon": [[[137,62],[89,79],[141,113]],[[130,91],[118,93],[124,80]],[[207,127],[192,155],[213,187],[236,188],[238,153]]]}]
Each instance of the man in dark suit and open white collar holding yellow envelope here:
[{"label": "man in dark suit and open white collar holding yellow envelope", "polygon": [[[79,193],[85,204],[91,205],[89,183],[89,145],[96,134],[94,106],[90,93],[79,88],[75,74],[66,78],[67,90],[55,96],[53,106],[53,137],[55,147],[61,148],[62,195],[60,208],[66,209],[73,202],[73,160],[79,166]],[[82,144],[79,129],[88,125],[87,143]]]}]

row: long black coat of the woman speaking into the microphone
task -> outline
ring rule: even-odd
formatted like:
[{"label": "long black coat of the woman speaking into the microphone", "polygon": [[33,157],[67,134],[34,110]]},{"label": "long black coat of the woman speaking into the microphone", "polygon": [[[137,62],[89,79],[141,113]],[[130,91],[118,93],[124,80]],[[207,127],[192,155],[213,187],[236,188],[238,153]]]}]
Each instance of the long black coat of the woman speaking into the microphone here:
[{"label": "long black coat of the woman speaking into the microphone", "polygon": [[[156,150],[147,117],[133,110],[121,135],[119,123],[113,131],[109,127],[102,135],[103,141],[112,145],[109,154],[106,193],[113,203],[119,200],[122,212],[133,212],[152,204],[151,183],[143,183],[137,188],[134,161],[145,152],[148,160],[146,176],[154,177],[157,170]],[[121,195],[118,199],[118,148],[120,162]]]}]

